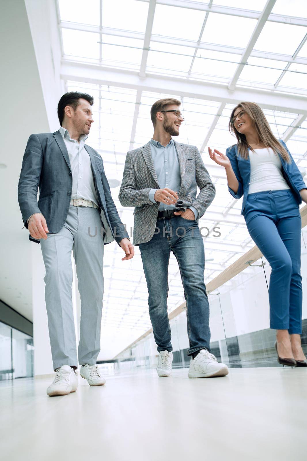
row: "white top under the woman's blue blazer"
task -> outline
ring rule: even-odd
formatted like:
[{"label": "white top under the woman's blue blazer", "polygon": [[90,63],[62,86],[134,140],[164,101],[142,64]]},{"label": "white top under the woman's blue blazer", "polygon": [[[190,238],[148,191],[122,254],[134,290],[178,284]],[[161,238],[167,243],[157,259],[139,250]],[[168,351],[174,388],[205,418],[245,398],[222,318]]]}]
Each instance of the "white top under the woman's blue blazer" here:
[{"label": "white top under the woman's blue blazer", "polygon": [[248,194],[265,190],[290,189],[282,174],[282,163],[272,148],[249,150]]}]

